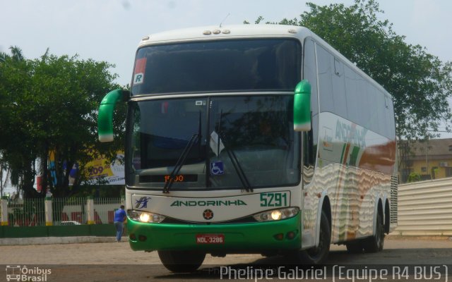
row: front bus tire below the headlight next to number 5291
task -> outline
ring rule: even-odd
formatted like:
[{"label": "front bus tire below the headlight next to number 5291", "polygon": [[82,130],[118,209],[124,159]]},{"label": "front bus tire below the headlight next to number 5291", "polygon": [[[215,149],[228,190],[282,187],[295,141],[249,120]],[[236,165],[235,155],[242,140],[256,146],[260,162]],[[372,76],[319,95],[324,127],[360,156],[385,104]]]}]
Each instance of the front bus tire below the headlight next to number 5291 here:
[{"label": "front bus tire below the headlight next to number 5291", "polygon": [[299,252],[299,260],[302,264],[322,264],[328,257],[331,245],[331,228],[328,216],[322,211],[320,219],[319,246]]}]

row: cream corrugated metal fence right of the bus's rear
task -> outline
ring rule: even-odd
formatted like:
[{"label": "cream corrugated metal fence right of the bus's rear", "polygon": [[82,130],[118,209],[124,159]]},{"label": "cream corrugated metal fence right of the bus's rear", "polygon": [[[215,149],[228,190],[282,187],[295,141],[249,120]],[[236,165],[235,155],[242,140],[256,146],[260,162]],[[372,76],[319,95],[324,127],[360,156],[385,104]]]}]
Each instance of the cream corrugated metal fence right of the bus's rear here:
[{"label": "cream corrugated metal fence right of the bus's rear", "polygon": [[452,178],[398,186],[398,235],[452,235]]}]

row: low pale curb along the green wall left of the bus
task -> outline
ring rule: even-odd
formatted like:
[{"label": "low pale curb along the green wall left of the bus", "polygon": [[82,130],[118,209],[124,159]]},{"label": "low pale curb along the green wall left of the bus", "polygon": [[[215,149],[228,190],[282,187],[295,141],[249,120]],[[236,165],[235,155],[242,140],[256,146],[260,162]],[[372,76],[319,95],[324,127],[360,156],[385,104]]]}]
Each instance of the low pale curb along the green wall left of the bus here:
[{"label": "low pale curb along the green wall left of the bus", "polygon": [[[12,245],[52,245],[52,244],[80,244],[80,243],[113,243],[114,237],[35,237],[35,238],[0,238],[0,246]],[[126,242],[126,240],[124,240]]]}]

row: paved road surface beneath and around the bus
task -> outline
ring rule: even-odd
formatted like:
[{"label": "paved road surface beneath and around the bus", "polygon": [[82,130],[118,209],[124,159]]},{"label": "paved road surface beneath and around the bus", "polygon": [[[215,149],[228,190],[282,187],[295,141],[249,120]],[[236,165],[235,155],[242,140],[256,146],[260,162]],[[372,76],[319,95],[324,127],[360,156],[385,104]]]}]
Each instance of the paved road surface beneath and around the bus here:
[{"label": "paved road surface beneath and around the bus", "polygon": [[[262,257],[261,255],[227,255],[224,258],[210,257],[208,255],[196,274],[172,274],[161,264],[156,252],[133,252],[128,243],[86,243],[86,244],[59,244],[59,245],[19,245],[0,246],[0,264],[12,266],[26,266],[30,271],[35,271],[31,276],[39,276],[39,272],[49,270],[51,273],[45,276],[47,281],[210,281],[218,280],[220,272],[222,278],[245,278],[245,281],[260,280],[256,277],[265,272],[273,271],[273,275],[267,276],[268,280],[278,281],[283,278],[298,278],[290,274],[310,275],[311,280],[316,281],[315,269],[309,267],[297,269],[296,266],[283,266],[281,257]],[[410,264],[411,269],[405,272],[400,270],[402,281],[413,281],[415,278],[426,278],[422,275],[414,276],[413,267],[422,264],[437,264],[441,267],[433,269],[432,280],[419,279],[418,281],[445,281],[445,272],[448,271],[449,280],[452,281],[452,240],[443,238],[394,238],[389,237],[385,241],[385,250],[376,254],[350,255],[343,246],[331,246],[331,254],[328,257],[328,274],[321,273],[318,276],[321,281],[338,281],[337,272],[342,271],[335,264],[348,264],[352,268],[360,265],[364,267],[362,274],[372,274],[370,269],[385,269],[391,265]],[[381,266],[384,264],[386,266]],[[442,265],[448,265],[442,266]],[[373,266],[372,266],[373,265]],[[391,266],[392,267],[392,266]],[[429,267],[429,266],[427,266]],[[38,270],[40,269],[40,270]],[[246,275],[240,276],[239,269],[245,269]],[[263,270],[262,270],[263,269]],[[423,269],[423,268],[422,268]],[[421,271],[422,271],[421,269]],[[11,270],[11,269],[10,269]],[[331,274],[331,271],[335,274]],[[393,269],[394,270],[394,269]],[[417,269],[419,270],[419,268]],[[0,269],[0,281],[6,278],[6,267]],[[357,271],[357,270],[356,270]],[[370,272],[369,272],[370,271]],[[414,269],[416,271],[416,269]],[[37,273],[37,274],[36,274]],[[244,272],[242,272],[244,274]],[[384,274],[384,272],[383,272]],[[344,273],[341,281],[347,281]],[[367,277],[361,281],[394,281],[392,274],[379,276],[378,279]],[[42,275],[41,275],[42,276]],[[42,276],[44,278],[44,276]],[[246,279],[247,278],[247,279]],[[257,279],[256,279],[257,278]],[[306,278],[306,277],[304,277]],[[350,277],[349,277],[350,278]],[[385,280],[387,278],[387,280]],[[395,277],[397,278],[397,276]],[[407,279],[408,278],[408,279]],[[427,277],[428,278],[428,277]],[[433,280],[433,278],[440,278]],[[317,279],[319,280],[319,279]],[[261,281],[266,281],[262,279]],[[350,279],[351,281],[351,279]],[[359,281],[355,278],[355,281]]]}]

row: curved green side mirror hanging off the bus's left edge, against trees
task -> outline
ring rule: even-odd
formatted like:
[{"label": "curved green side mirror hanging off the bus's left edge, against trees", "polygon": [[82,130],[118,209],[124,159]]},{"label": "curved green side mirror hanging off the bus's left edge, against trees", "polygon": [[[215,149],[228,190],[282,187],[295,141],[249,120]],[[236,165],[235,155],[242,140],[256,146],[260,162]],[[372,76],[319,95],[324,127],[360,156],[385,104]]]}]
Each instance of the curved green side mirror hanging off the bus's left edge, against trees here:
[{"label": "curved green side mirror hanging off the bus's left edge, against trees", "polygon": [[97,133],[100,142],[113,141],[113,113],[116,103],[124,99],[124,92],[121,89],[113,90],[105,95],[99,106],[97,116]]}]

